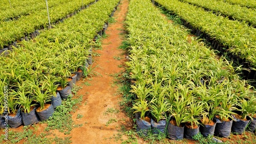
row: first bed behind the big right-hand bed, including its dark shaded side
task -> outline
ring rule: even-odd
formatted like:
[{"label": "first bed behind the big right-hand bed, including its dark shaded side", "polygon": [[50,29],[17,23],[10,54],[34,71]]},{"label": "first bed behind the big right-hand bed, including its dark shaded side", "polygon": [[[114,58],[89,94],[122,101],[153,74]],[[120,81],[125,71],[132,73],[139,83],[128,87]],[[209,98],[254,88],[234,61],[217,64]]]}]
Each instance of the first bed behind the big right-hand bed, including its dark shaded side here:
[{"label": "first bed behind the big right-hand bed, including its dark shaded side", "polygon": [[[246,80],[249,80],[252,85],[255,85],[256,74],[255,65],[253,64],[253,59],[255,58],[253,52],[255,50],[253,49],[253,47],[255,46],[255,38],[254,36],[249,36],[249,33],[244,33],[244,31],[242,30],[248,28],[248,30],[250,29],[249,31],[251,31],[251,35],[255,35],[254,28],[248,27],[248,25],[243,22],[228,20],[222,16],[215,15],[210,11],[207,12],[203,9],[197,8],[196,6],[189,5],[187,3],[182,3],[179,1],[177,1],[177,3],[156,1],[155,4],[159,5],[159,7],[162,7],[169,14],[178,16],[181,19],[183,25],[191,30],[192,34],[195,34],[205,39],[206,43],[208,43],[212,49],[217,50],[219,54],[225,56],[229,61],[233,61],[235,66],[241,66],[242,68],[245,68],[242,70],[241,77],[243,77]],[[180,11],[177,9],[180,6],[184,8],[184,11]],[[191,16],[187,17],[187,13],[190,13]],[[202,15],[196,16],[195,13],[202,13]],[[208,22],[207,19],[212,21]],[[218,21],[222,22],[219,23]],[[219,24],[213,26],[212,23],[216,22]],[[224,25],[227,26],[223,27]],[[231,27],[231,25],[233,25],[233,27]],[[241,34],[243,36],[240,35],[240,32],[236,30],[238,27],[240,27],[239,29],[242,30]],[[214,29],[216,32],[210,31],[211,29]],[[231,31],[236,32],[233,33]],[[243,39],[242,37],[247,37],[246,35],[249,37]],[[227,37],[229,37],[229,39],[224,40]],[[246,44],[242,44],[244,40],[247,41]],[[228,41],[232,42],[229,44]],[[236,42],[238,42],[239,44],[236,44]]]}]

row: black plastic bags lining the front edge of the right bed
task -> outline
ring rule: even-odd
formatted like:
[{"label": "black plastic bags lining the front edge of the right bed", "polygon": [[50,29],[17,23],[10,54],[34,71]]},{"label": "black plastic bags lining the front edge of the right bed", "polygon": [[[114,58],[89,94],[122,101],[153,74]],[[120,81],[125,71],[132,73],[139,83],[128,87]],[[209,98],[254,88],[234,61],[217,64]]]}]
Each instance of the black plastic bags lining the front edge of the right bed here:
[{"label": "black plastic bags lining the front edge of the right bed", "polygon": [[208,135],[216,135],[219,137],[229,137],[231,132],[234,134],[242,134],[245,130],[255,132],[256,118],[253,120],[241,121],[233,117],[234,120],[221,122],[217,117],[214,119],[214,125],[199,125],[197,128],[191,129],[185,125],[177,127],[172,124],[173,118],[155,122],[152,118],[141,119],[136,114],[137,132],[140,135],[147,136],[149,132],[152,134],[166,133],[170,139],[193,139],[193,136],[201,132],[204,137]]}]

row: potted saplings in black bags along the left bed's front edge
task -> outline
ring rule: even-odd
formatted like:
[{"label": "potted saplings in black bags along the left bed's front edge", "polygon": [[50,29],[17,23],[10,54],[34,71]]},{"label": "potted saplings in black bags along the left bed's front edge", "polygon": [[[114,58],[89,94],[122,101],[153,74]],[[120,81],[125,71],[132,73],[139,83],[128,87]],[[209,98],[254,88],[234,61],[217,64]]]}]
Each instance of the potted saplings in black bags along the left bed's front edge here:
[{"label": "potted saplings in black bags along the left bed's front edge", "polygon": [[[52,85],[55,87],[55,92],[50,95],[45,88],[45,84],[39,84],[33,91],[35,98],[31,97],[24,89],[18,89],[15,93],[18,95],[18,99],[23,99],[24,104],[14,103],[16,95],[8,95],[8,111],[5,110],[0,115],[0,127],[5,129],[6,127],[17,128],[24,124],[25,126],[36,124],[40,121],[46,121],[52,116],[57,106],[61,105],[62,100],[67,99],[73,95],[71,89],[75,85],[76,81],[79,81],[87,74],[87,67],[92,64],[92,56],[86,60],[86,64],[83,67],[72,74],[68,79],[62,79],[60,82],[54,82]],[[50,80],[51,81],[51,80]],[[29,83],[26,83],[29,85]],[[11,92],[10,92],[11,93]],[[10,105],[12,109],[10,108]],[[16,109],[18,107],[18,109]],[[10,109],[10,110],[9,110]],[[6,114],[7,113],[7,114]]]}]

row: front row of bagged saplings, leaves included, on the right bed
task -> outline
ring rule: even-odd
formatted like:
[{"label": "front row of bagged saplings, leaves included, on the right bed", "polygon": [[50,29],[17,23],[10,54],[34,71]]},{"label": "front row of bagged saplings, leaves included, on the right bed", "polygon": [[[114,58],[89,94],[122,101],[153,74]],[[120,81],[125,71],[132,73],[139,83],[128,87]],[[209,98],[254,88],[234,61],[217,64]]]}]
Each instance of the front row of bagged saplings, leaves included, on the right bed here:
[{"label": "front row of bagged saplings, leaves included, on the right bed", "polygon": [[[141,136],[147,136],[149,133],[157,135],[162,133],[173,140],[183,139],[183,137],[193,139],[193,136],[199,132],[204,137],[214,135],[229,137],[231,132],[233,134],[242,134],[245,130],[255,132],[256,97],[253,96],[250,100],[243,99],[240,102],[241,105],[238,106],[238,110],[226,111],[228,115],[225,115],[225,112],[222,113],[223,109],[220,107],[211,107],[211,104],[207,104],[209,106],[208,110],[204,110],[198,115],[194,115],[193,111],[195,112],[200,107],[202,108],[202,104],[196,104],[193,108],[189,105],[186,107],[189,110],[183,107],[176,112],[164,111],[169,107],[166,102],[158,108],[155,105],[153,108],[146,107],[138,110],[134,106],[137,132]],[[243,104],[246,106],[243,106]],[[155,108],[156,110],[154,110]],[[248,113],[247,111],[253,111],[253,113]]]}]

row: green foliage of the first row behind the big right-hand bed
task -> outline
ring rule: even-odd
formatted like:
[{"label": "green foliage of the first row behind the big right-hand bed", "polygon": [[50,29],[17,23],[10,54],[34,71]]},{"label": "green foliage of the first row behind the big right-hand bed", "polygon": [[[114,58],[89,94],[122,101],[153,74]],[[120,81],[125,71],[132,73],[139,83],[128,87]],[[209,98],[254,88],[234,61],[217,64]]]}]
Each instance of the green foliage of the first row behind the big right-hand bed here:
[{"label": "green foliage of the first row behind the big right-hand bed", "polygon": [[256,66],[256,30],[254,28],[248,27],[246,23],[229,20],[178,0],[155,2],[180,16],[194,29],[228,46],[228,51],[233,55],[246,59],[251,66]]}]

